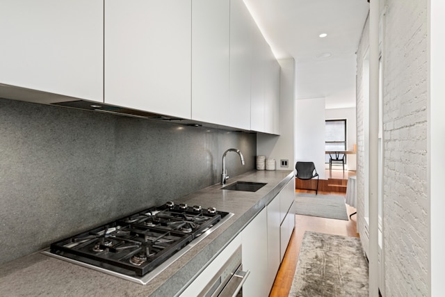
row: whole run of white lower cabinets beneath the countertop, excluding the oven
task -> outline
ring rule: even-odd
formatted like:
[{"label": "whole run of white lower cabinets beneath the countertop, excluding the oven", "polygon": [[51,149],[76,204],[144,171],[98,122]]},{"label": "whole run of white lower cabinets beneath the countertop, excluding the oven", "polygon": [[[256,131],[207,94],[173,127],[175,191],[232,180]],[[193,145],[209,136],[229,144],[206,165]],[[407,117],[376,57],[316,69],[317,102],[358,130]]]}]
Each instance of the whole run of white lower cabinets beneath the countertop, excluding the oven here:
[{"label": "whole run of white lower cabinets beneath the countertop, excluding the oven", "polygon": [[243,271],[250,271],[243,296],[268,296],[295,227],[294,189],[291,179],[179,296],[199,295],[239,246]]}]

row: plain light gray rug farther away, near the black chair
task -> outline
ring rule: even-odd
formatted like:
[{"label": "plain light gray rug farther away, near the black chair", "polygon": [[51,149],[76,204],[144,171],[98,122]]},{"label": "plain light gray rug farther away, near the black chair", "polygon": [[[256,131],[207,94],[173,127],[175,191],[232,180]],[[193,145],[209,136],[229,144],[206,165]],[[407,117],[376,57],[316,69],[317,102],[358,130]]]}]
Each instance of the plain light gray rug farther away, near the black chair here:
[{"label": "plain light gray rug farther away, near the black chair", "polygon": [[295,201],[296,214],[349,220],[343,196],[296,193]]}]

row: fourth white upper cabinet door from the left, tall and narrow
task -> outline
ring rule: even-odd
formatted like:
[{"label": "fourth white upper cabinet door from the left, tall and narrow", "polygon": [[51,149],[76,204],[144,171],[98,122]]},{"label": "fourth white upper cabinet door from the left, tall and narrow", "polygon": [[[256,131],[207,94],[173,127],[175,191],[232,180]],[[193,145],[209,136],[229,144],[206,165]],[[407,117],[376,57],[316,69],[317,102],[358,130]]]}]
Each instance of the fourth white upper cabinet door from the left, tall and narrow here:
[{"label": "fourth white upper cabinet door from the left, tall and narrow", "polygon": [[231,127],[250,129],[250,63],[254,26],[243,0],[230,1],[230,97]]}]

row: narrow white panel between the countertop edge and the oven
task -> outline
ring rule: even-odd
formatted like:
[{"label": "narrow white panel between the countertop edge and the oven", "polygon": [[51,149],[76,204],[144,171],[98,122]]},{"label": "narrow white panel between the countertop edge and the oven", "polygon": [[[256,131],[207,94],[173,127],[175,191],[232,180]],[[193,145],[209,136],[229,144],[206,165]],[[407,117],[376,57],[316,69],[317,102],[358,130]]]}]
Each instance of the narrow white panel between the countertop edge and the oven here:
[{"label": "narrow white panel between the countertop edge and the oven", "polygon": [[207,266],[200,275],[193,280],[191,284],[179,295],[181,297],[195,297],[198,296],[206,286],[211,283],[211,280],[220,271],[220,268],[224,266],[227,260],[234,255],[236,249],[241,246],[241,234],[236,236],[229,245],[220,254],[213,259],[213,261]]}]

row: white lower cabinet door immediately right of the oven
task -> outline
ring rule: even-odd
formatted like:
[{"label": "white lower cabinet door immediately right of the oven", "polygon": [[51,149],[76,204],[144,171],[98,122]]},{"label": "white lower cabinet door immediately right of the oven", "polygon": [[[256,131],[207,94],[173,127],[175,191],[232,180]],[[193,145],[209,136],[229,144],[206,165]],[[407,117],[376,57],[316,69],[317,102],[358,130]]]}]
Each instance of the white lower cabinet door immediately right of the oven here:
[{"label": "white lower cabinet door immediately right of the oven", "polygon": [[242,237],[243,270],[250,270],[250,275],[243,284],[243,296],[268,296],[266,208],[245,227]]}]

